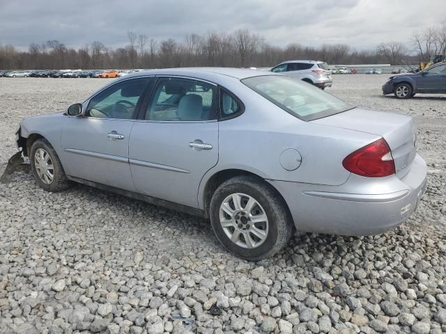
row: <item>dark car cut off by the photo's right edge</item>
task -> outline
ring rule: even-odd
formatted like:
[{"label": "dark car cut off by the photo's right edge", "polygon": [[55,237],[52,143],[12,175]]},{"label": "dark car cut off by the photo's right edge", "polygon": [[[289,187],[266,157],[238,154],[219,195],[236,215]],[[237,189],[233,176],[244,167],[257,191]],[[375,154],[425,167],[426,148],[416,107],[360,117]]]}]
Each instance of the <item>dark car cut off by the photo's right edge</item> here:
[{"label": "dark car cut off by the photo's right edge", "polygon": [[383,85],[383,94],[408,99],[417,93],[446,94],[446,62],[437,63],[417,73],[390,77]]}]

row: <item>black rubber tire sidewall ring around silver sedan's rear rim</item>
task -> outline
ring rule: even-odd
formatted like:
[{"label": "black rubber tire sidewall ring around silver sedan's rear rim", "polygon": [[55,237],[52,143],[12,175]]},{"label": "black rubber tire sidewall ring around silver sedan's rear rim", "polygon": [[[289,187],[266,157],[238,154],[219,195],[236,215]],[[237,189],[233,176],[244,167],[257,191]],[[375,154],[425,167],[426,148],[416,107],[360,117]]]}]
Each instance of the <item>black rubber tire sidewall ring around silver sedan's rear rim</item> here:
[{"label": "black rubber tire sidewall ring around silver sedan's rear rim", "polygon": [[[232,193],[245,193],[246,195],[252,196],[252,198],[259,202],[261,207],[265,210],[266,216],[268,217],[268,236],[261,246],[252,249],[237,246],[229,240],[224,233],[222,225],[220,224],[220,205],[223,200]],[[272,202],[274,202],[275,199],[267,198],[267,196],[268,195],[265,196],[265,194],[256,186],[240,182],[227,184],[222,189],[218,189],[210,202],[210,221],[217,239],[219,239],[223,246],[229,251],[246,260],[263,258],[264,255],[270,253],[277,244],[277,239],[279,237],[277,222],[280,221],[281,217],[277,216],[277,212],[273,209]]]}]

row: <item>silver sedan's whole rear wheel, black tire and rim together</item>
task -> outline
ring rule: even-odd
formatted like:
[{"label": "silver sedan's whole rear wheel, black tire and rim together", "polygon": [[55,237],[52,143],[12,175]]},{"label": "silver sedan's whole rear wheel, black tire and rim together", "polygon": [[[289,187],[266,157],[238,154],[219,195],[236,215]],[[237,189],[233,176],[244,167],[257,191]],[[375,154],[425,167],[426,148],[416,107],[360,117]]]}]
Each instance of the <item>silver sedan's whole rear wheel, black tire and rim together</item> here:
[{"label": "silver sedan's whole rear wheel, black tire and rim together", "polygon": [[[233,198],[240,203],[239,210]],[[249,200],[254,205],[247,212],[244,209]],[[209,209],[217,239],[227,250],[245,260],[257,261],[275,255],[286,246],[293,233],[293,220],[282,198],[256,177],[237,176],[223,182],[213,194]],[[258,220],[255,225],[253,217]],[[224,220],[227,224],[223,227]],[[231,236],[235,241],[231,241]]]}]

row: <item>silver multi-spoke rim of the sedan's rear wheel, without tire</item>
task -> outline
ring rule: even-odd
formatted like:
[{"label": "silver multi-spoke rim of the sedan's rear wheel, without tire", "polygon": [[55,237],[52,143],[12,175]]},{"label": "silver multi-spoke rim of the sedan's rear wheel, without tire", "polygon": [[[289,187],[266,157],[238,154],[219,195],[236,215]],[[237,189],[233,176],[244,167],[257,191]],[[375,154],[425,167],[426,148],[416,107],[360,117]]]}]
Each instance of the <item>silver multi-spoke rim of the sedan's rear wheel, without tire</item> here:
[{"label": "silver multi-spoke rim of the sedan's rear wheel, without tire", "polygon": [[245,193],[233,193],[220,205],[222,229],[237,246],[257,248],[268,237],[268,217],[260,203]]}]

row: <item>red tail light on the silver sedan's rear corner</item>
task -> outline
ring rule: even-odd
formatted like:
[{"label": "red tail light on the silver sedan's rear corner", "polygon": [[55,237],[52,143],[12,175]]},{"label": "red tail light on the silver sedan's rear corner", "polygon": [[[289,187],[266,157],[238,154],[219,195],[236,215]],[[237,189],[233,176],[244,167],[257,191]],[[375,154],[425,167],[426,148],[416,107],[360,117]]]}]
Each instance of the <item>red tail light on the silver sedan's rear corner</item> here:
[{"label": "red tail light on the silver sedan's rear corner", "polygon": [[348,154],[342,166],[351,173],[365,177],[385,177],[395,173],[395,164],[384,138]]}]

